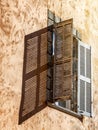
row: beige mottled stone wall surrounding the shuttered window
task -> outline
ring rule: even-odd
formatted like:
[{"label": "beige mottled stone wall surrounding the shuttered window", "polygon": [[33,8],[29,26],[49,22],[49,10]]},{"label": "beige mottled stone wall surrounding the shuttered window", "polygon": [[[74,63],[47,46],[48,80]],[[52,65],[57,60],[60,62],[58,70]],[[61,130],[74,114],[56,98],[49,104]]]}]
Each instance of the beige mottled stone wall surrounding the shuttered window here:
[{"label": "beige mottled stone wall surrounding the shuttered window", "polygon": [[[98,1],[0,1],[0,130],[98,130]],[[82,40],[92,46],[93,118],[79,119],[46,107],[18,125],[24,36],[47,26],[47,8],[73,18]]]}]

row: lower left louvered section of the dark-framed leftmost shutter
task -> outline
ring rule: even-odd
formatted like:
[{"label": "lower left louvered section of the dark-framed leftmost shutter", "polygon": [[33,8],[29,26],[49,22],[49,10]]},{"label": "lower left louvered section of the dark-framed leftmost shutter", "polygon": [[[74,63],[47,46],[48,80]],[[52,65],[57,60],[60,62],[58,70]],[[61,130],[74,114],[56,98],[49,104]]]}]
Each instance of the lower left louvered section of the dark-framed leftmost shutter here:
[{"label": "lower left louvered section of the dark-framed leftmost shutter", "polygon": [[25,94],[22,116],[25,116],[27,113],[30,113],[36,107],[36,87],[37,76],[34,76],[25,81]]}]

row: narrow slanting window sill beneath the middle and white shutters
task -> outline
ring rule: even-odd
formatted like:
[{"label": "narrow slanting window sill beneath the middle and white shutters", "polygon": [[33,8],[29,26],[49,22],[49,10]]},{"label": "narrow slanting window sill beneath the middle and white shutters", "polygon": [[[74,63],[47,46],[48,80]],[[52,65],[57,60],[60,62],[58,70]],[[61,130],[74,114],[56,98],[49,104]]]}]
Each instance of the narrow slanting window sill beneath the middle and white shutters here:
[{"label": "narrow slanting window sill beneath the middle and white shutters", "polygon": [[63,108],[63,107],[57,106],[54,103],[49,103],[49,102],[48,102],[48,106],[51,107],[51,108],[54,108],[56,110],[59,110],[61,112],[64,112],[66,114],[69,114],[71,116],[74,116],[74,117],[78,118],[80,121],[83,121],[83,116],[82,115],[80,115],[78,113],[75,113],[75,112],[73,112],[73,111],[71,111],[71,110],[69,110],[67,108]]}]

